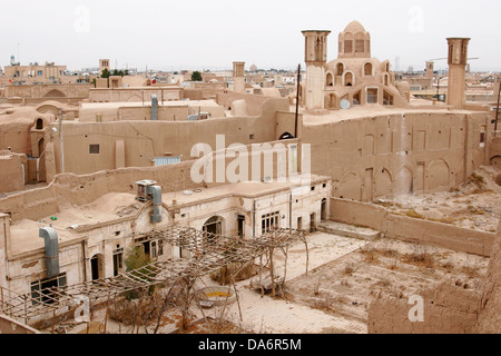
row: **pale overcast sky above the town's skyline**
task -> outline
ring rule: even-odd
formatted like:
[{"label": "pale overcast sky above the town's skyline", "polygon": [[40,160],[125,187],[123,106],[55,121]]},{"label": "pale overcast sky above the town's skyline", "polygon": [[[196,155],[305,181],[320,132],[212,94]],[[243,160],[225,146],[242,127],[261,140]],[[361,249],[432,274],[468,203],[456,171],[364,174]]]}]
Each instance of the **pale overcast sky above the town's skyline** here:
[{"label": "pale overcast sky above the town's skyline", "polygon": [[[0,0],[0,66],[56,62],[161,70],[257,67],[304,68],[302,30],[337,34],[360,21],[372,37],[372,56],[400,68],[424,69],[445,58],[446,37],[469,37],[472,70],[501,71],[499,0]],[[446,68],[438,60],[435,68]]]}]

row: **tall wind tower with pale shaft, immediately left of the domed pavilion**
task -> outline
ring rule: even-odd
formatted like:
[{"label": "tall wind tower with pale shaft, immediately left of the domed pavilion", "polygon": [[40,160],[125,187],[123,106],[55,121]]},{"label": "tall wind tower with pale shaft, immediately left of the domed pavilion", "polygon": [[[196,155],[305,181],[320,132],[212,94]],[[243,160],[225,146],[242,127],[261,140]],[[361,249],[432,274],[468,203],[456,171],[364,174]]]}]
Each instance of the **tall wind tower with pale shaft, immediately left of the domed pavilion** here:
[{"label": "tall wind tower with pale shaft, immediately left of the domed pavilion", "polygon": [[327,36],[331,31],[312,30],[302,32],[305,37],[305,106],[306,109],[323,109]]}]

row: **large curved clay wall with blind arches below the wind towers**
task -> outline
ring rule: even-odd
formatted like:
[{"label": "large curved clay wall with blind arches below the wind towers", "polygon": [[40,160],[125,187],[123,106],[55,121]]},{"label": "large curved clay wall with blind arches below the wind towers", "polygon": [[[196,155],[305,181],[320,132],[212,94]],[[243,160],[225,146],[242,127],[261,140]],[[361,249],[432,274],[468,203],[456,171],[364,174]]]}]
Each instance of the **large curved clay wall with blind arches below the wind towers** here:
[{"label": "large curved clay wall with blind arches below the wind towers", "polygon": [[404,111],[304,125],[312,172],[333,178],[332,196],[372,201],[396,194],[449,190],[489,164],[484,112]]}]

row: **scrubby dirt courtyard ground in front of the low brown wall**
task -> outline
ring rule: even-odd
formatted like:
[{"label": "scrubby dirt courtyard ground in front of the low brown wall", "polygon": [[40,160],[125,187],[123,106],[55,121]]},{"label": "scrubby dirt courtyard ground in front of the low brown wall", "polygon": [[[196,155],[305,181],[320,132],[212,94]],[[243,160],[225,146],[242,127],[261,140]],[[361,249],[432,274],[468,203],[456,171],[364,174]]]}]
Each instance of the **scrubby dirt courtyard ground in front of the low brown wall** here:
[{"label": "scrubby dirt courtyard ground in front of the low brown wall", "polygon": [[325,313],[367,322],[379,295],[410,297],[452,278],[479,288],[489,258],[438,247],[377,239],[287,283],[287,297]]}]

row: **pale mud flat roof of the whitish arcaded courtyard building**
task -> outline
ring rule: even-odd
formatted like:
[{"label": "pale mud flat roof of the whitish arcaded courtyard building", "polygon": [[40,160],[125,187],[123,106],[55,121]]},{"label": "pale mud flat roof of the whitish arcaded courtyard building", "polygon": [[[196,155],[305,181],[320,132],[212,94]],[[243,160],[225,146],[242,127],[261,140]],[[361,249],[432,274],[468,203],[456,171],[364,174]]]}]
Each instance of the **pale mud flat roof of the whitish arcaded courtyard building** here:
[{"label": "pale mud flat roof of the whitish arcaded courtyard building", "polygon": [[[228,184],[217,187],[198,188],[196,191],[186,190],[163,192],[163,204],[168,208],[183,208],[205,201],[215,201],[226,197],[258,198],[281,191],[307,187],[311,184],[318,184],[330,180],[325,176],[296,176],[298,181],[244,181]],[[303,181],[299,181],[303,179]],[[55,212],[40,220],[22,219],[14,221],[10,227],[11,253],[16,257],[42,254],[45,241],[39,237],[39,229],[51,226],[58,233],[59,246],[72,245],[86,239],[82,235],[86,230],[119,222],[122,219],[134,218],[145,206],[145,202],[136,200],[134,192],[109,192],[95,201],[82,206],[60,207],[59,212]],[[174,201],[176,200],[176,205]]]}]

